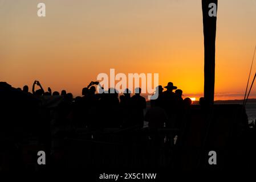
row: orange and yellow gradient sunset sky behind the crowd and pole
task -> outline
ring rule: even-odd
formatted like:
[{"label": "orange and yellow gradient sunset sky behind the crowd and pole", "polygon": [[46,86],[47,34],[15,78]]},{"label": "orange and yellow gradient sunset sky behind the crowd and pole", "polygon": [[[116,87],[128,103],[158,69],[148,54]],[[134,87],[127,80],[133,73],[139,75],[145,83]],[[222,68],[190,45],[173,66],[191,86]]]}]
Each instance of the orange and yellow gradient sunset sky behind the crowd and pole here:
[{"label": "orange and yellow gradient sunset sky behind the crowd and pole", "polygon": [[[185,97],[203,94],[201,0],[0,0],[0,23],[0,80],[14,87],[39,80],[78,96],[115,68],[159,73]],[[256,0],[219,0],[216,100],[243,97],[255,44]]]}]

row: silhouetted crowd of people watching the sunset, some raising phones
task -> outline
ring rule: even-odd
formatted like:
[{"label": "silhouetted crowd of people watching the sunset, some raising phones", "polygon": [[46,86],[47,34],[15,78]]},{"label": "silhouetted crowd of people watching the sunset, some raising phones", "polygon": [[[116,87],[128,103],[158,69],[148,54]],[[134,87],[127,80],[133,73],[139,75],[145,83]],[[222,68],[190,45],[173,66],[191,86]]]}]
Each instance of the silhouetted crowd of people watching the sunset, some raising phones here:
[{"label": "silhouetted crowd of people watching the sunset, some raising phones", "polygon": [[[39,89],[35,90],[38,85]],[[42,96],[59,96],[63,101],[59,104],[58,123],[70,123],[73,127],[100,128],[127,128],[144,126],[148,122],[151,128],[179,128],[184,113],[192,105],[190,98],[182,98],[182,90],[177,89],[172,82],[162,88],[156,87],[156,99],[150,101],[150,107],[143,96],[141,88],[135,88],[135,94],[131,96],[131,90],[125,89],[120,95],[115,88],[109,88],[108,92],[100,86],[101,93],[96,93],[99,82],[91,81],[82,89],[82,97],[73,98],[72,93],[62,90],[52,92],[48,87],[44,91],[39,81],[35,80],[32,85],[32,95],[38,98]],[[21,88],[18,88],[21,90]],[[175,92],[173,92],[175,90]],[[29,86],[23,86],[23,92],[29,93]],[[102,92],[104,91],[104,92]],[[29,93],[31,94],[31,93]],[[154,95],[153,95],[154,96]],[[152,96],[152,98],[153,98]],[[200,102],[203,102],[200,100]],[[56,119],[55,119],[56,120]],[[66,122],[64,122],[66,121]]]}]

